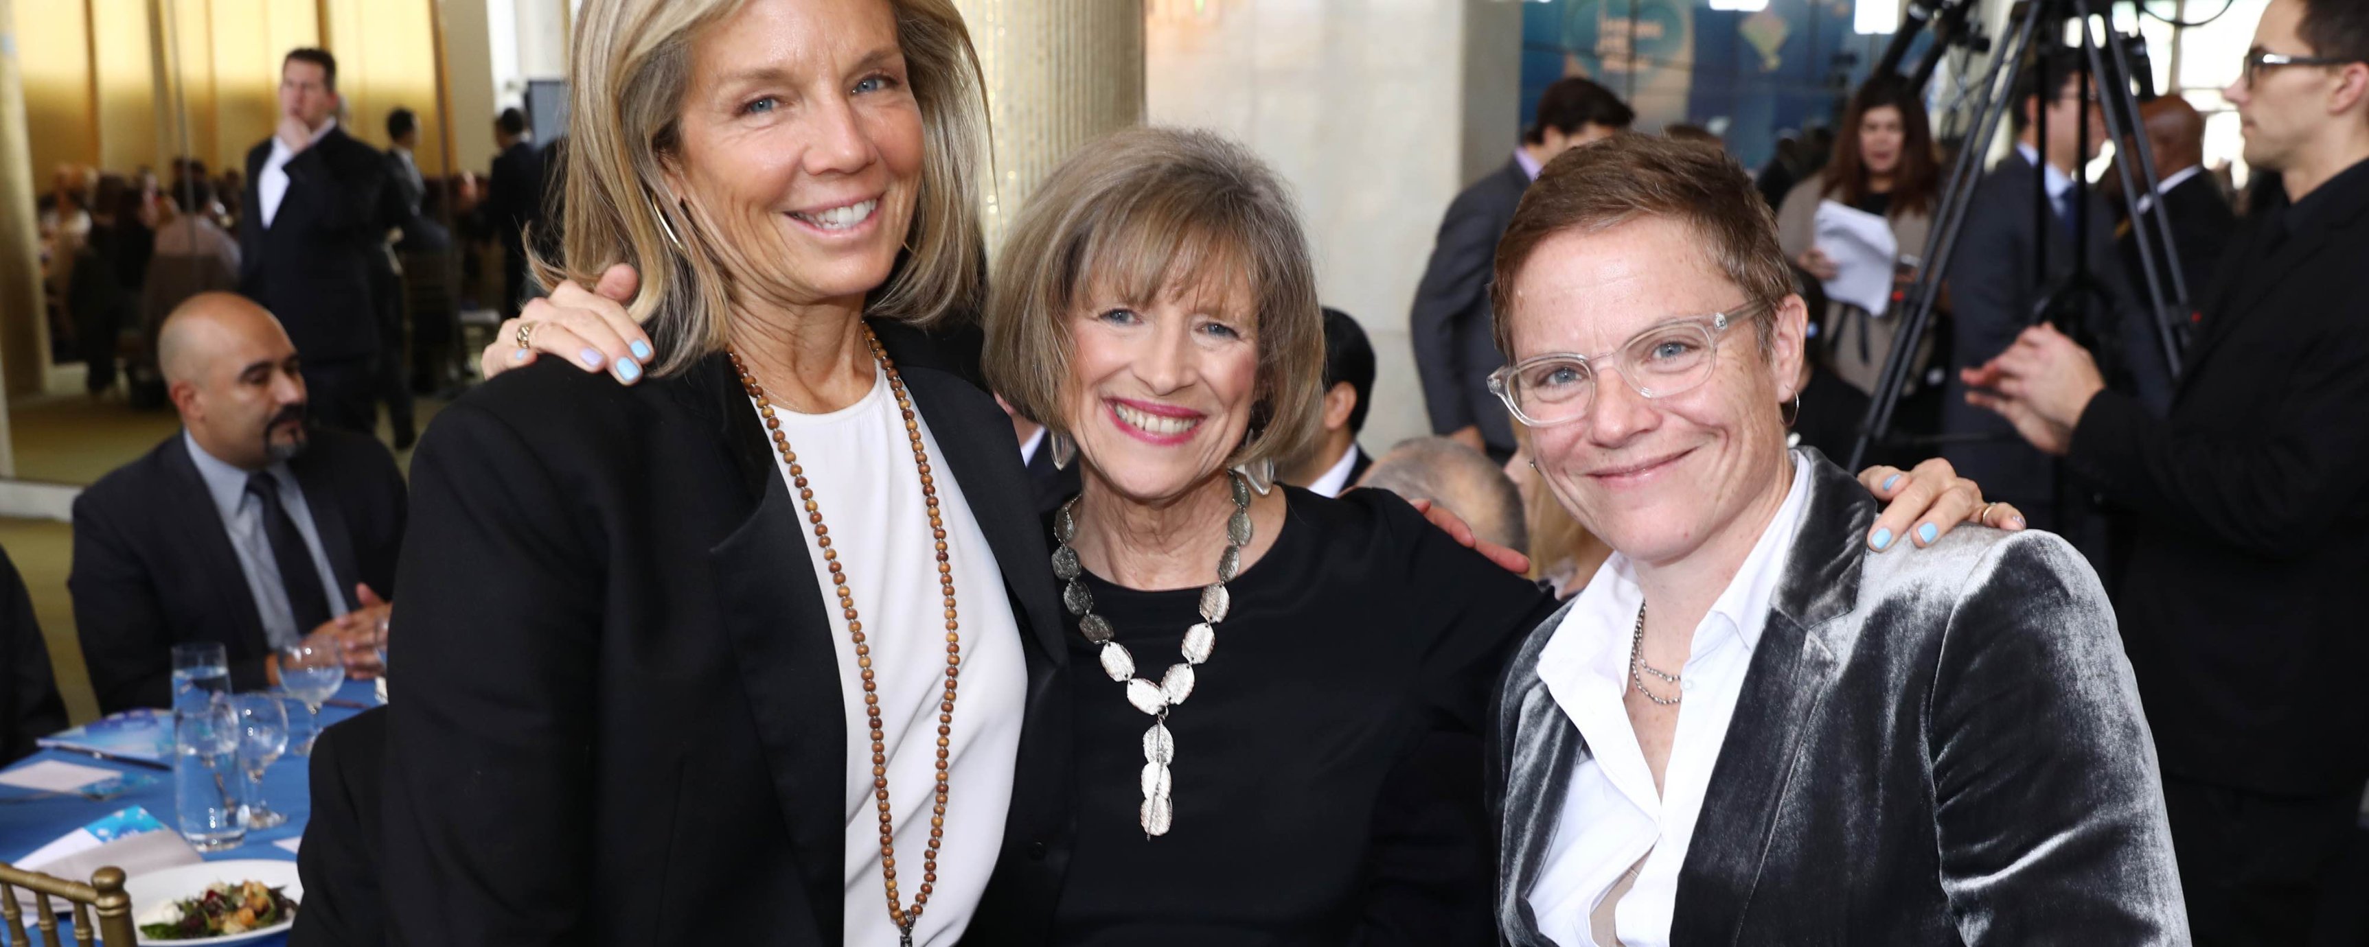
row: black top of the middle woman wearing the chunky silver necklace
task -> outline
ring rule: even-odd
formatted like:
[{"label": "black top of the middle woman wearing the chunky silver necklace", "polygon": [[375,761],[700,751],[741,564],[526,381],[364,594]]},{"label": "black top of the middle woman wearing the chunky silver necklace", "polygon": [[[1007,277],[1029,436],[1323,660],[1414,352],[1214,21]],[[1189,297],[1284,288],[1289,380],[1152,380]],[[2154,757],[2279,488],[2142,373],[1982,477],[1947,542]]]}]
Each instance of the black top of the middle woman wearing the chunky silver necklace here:
[{"label": "black top of the middle woman wearing the chunky silver necklace", "polygon": [[[1054,942],[1495,942],[1481,736],[1554,599],[1391,492],[1284,490],[1282,535],[1227,585],[1232,616],[1168,715],[1168,836],[1137,822],[1151,717],[1066,623],[1078,822]],[[1087,585],[1137,675],[1182,661],[1199,590]]]}]

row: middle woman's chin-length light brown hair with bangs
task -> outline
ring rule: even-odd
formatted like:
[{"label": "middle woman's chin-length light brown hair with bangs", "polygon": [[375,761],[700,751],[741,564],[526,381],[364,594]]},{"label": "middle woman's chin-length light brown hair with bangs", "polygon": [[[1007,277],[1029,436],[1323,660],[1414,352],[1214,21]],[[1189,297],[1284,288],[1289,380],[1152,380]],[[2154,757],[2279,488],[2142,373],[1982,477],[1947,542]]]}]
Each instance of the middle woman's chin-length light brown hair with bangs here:
[{"label": "middle woman's chin-length light brown hair with bangs", "polygon": [[1135,128],[1085,144],[1038,185],[988,279],[988,388],[1068,433],[1071,315],[1241,277],[1256,313],[1258,400],[1230,464],[1301,452],[1322,429],[1324,313],[1284,182],[1211,133]]}]

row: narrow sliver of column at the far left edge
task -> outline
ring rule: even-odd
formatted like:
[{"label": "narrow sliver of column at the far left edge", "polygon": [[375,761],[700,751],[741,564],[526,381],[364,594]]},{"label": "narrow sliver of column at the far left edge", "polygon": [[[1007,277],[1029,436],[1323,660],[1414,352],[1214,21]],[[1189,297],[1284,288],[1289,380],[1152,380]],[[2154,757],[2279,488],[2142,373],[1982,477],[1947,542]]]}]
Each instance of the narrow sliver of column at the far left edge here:
[{"label": "narrow sliver of column at the far left edge", "polygon": [[[36,0],[38,2],[38,0]],[[33,211],[33,144],[17,69],[17,9],[0,0],[0,391],[40,391],[50,334],[40,308],[40,213]],[[17,476],[17,447],[0,395],[0,478]]]}]

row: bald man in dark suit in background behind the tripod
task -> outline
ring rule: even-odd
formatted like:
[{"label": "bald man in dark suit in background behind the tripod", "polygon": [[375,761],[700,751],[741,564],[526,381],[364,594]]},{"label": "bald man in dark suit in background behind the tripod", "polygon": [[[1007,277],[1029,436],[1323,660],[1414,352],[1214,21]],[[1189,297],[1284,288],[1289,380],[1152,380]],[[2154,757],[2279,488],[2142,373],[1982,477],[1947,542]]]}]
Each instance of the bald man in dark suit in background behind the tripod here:
[{"label": "bald man in dark suit in background behind the tripod", "polygon": [[[2189,99],[2165,95],[2142,104],[2139,121],[2146,147],[2156,154],[2156,187],[2163,189],[2163,215],[2179,251],[2179,277],[2189,286],[2189,301],[2203,298],[2222,251],[2229,249],[2229,234],[2236,232],[2229,197],[2222,194],[2220,180],[2206,173],[2206,116]],[[2153,227],[2153,201],[2142,194],[2137,223]],[[2120,251],[2130,279],[2144,286],[2146,270],[2139,265],[2139,244],[2130,237],[2130,227],[2123,230]],[[2170,277],[2156,275],[2156,279],[2165,282],[2170,296]]]}]

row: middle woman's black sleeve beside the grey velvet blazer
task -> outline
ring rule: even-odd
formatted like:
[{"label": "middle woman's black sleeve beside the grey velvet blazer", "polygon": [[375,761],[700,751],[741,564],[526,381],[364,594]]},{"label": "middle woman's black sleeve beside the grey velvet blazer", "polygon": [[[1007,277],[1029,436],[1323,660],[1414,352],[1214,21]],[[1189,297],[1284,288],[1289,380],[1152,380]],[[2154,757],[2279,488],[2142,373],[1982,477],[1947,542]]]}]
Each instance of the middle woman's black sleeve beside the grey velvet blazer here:
[{"label": "middle woman's black sleeve beside the grey velvet blazer", "polygon": [[1419,720],[1374,805],[1374,855],[1357,945],[1495,945],[1495,833],[1488,822],[1483,736],[1507,658],[1554,599],[1424,521],[1386,490],[1350,490],[1374,504],[1405,549],[1379,563],[1407,590],[1421,644]]}]

